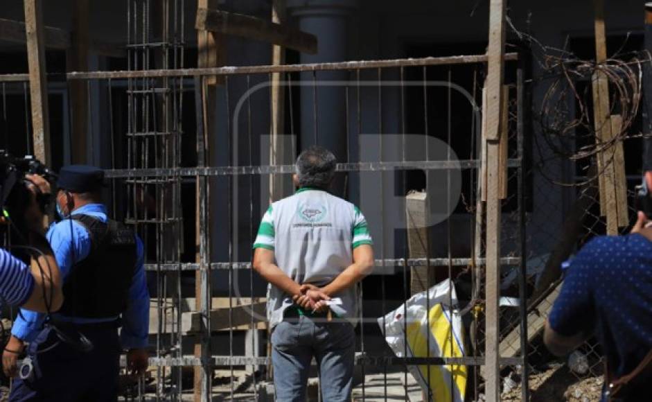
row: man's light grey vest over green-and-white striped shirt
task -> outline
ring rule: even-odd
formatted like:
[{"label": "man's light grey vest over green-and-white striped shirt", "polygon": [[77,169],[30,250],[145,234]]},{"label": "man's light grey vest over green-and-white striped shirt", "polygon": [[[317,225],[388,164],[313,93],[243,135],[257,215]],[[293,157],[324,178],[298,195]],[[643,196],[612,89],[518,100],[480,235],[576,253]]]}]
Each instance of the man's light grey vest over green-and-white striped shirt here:
[{"label": "man's light grey vest over green-and-white striped shirt", "polygon": [[[276,265],[293,281],[325,286],[353,263],[353,249],[365,244],[373,242],[367,220],[358,207],[326,191],[304,187],[267,209],[254,249],[273,250]],[[355,324],[357,287],[333,296],[342,299],[344,317]],[[283,311],[289,306],[292,306],[292,295],[270,285],[267,291],[270,326],[283,320]]]}]

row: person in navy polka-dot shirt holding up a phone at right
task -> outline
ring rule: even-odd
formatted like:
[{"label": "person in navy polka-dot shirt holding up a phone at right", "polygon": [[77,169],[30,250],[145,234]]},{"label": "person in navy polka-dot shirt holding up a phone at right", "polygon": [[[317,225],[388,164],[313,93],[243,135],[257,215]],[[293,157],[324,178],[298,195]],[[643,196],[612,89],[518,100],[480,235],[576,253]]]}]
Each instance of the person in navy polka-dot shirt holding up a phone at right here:
[{"label": "person in navy polka-dot shirt holding up a phone at right", "polygon": [[[652,173],[645,180],[652,189]],[[547,320],[544,342],[564,356],[595,334],[607,361],[606,391],[615,401],[648,401],[652,365],[652,227],[639,211],[631,234],[598,236],[566,270]],[[614,392],[609,384],[636,374]],[[606,396],[605,396],[606,398]],[[603,399],[606,400],[606,399]]]}]

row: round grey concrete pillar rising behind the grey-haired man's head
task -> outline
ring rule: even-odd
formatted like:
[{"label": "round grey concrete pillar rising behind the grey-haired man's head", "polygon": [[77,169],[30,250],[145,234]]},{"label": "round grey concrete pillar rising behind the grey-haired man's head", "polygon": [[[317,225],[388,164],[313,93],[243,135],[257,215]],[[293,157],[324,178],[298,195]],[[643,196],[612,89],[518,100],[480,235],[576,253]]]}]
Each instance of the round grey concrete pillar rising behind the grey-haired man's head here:
[{"label": "round grey concrete pillar rising behind the grey-haired man's head", "polygon": [[[317,36],[319,42],[317,54],[301,53],[301,63],[348,60],[351,19],[357,8],[357,0],[289,0],[288,11],[298,28]],[[338,161],[346,161],[346,92],[343,86],[320,82],[346,81],[349,73],[302,73],[301,80],[306,83],[301,87],[301,149],[317,143],[332,150]],[[316,88],[312,86],[313,80]],[[333,192],[342,195],[343,186],[343,180],[336,180]]]}]

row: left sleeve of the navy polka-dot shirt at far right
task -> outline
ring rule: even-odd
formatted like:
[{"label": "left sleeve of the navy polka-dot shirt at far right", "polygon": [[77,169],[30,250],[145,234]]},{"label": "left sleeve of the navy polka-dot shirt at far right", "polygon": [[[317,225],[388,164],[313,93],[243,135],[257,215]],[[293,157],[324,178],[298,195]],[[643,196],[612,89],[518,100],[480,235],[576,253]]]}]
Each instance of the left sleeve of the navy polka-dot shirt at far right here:
[{"label": "left sleeve of the navy polka-dot shirt at far right", "polygon": [[592,278],[601,263],[601,241],[594,239],[576,255],[566,270],[561,292],[552,306],[548,322],[564,336],[590,333],[594,329]]}]

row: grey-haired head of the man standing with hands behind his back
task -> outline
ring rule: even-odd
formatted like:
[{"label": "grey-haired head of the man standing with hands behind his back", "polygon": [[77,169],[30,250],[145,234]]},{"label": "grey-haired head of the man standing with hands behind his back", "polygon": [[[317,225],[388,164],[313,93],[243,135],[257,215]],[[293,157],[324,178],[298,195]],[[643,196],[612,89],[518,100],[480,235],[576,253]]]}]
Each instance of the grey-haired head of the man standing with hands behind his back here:
[{"label": "grey-haired head of the man standing with hands behind his back", "polygon": [[337,160],[333,152],[320,146],[310,146],[299,154],[295,168],[301,187],[327,189],[335,175]]}]

